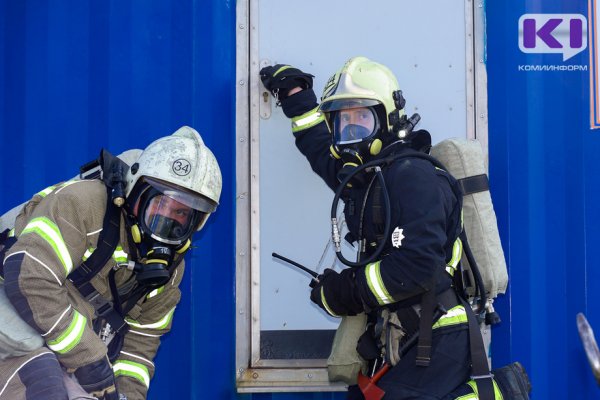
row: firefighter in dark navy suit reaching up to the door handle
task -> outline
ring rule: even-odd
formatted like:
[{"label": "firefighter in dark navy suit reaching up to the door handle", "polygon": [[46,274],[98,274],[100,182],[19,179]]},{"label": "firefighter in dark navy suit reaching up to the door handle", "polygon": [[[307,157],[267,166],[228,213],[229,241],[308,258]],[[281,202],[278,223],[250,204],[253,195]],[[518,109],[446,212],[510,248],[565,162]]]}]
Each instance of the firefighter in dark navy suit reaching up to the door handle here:
[{"label": "firefighter in dark navy suit reaching up to the door handle", "polygon": [[[459,387],[460,395],[474,396],[465,384],[471,310],[459,301],[452,279],[461,254],[462,195],[454,178],[423,155],[430,136],[413,130],[418,118],[404,114],[396,77],[384,65],[352,58],[329,78],[318,104],[312,75],[284,64],[260,74],[291,118],[297,148],[344,201],[347,237],[360,249],[357,262],[338,252],[352,268],[325,270],[311,300],[332,316],[368,314],[358,350],[372,372],[384,361],[392,364],[378,382],[386,399],[453,399],[458,392],[449,393]],[[361,169],[373,163],[381,170]],[[402,329],[386,342],[379,328],[392,326],[391,314]],[[399,354],[416,332],[418,345]],[[500,375],[496,392],[528,398],[519,364]],[[362,399],[363,393],[350,386],[348,398]]]}]

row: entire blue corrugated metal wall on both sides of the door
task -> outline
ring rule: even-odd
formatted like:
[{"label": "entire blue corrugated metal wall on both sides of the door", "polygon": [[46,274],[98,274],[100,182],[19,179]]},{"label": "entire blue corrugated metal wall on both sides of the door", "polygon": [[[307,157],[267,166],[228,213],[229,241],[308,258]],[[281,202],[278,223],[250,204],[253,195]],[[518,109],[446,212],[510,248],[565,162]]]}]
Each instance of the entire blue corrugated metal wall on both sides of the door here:
[{"label": "entire blue corrugated metal wall on both sides of the door", "polygon": [[[50,5],[51,4],[51,5]],[[575,328],[600,327],[599,132],[589,78],[518,47],[525,13],[587,2],[488,1],[490,178],[510,289],[497,301],[496,366],[520,360],[534,399],[600,395]],[[588,52],[564,64],[588,64]],[[100,148],[140,148],[187,124],[215,152],[224,188],[195,242],[151,399],[340,399],[236,395],[234,384],[235,2],[0,1],[0,210],[69,178]]]}]

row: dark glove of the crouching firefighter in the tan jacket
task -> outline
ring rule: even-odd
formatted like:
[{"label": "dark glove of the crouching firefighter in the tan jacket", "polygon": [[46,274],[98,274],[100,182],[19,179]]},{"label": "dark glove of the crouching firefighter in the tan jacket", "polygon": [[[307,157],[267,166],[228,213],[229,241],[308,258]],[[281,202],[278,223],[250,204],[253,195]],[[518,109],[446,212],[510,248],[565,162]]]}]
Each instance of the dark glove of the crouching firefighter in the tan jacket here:
[{"label": "dark glove of the crouching firefighter in the tan jacket", "polygon": [[77,368],[75,377],[83,390],[99,400],[119,400],[115,375],[108,358]]}]

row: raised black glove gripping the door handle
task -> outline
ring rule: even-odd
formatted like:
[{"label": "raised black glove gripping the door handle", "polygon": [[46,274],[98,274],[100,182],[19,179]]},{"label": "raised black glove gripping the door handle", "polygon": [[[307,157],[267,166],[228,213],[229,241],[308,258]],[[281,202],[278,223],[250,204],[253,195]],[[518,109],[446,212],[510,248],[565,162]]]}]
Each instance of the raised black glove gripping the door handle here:
[{"label": "raised black glove gripping the door handle", "polygon": [[312,78],[314,75],[286,64],[269,65],[260,70],[260,80],[278,103],[285,100],[295,87],[312,89]]}]

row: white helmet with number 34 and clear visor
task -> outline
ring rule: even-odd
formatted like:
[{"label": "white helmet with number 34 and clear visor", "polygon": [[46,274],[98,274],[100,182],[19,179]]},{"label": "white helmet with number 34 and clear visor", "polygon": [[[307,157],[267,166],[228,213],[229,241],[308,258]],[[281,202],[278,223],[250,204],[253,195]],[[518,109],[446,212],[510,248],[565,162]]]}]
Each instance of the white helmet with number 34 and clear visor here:
[{"label": "white helmet with number 34 and clear visor", "polygon": [[[126,179],[126,197],[131,211],[139,215],[142,230],[165,243],[181,243],[200,230],[221,195],[219,164],[189,126],[150,143],[127,171]],[[172,200],[180,206],[180,215],[187,217],[164,218],[165,213],[157,211],[172,209]],[[181,211],[184,208],[187,211]]]}]

